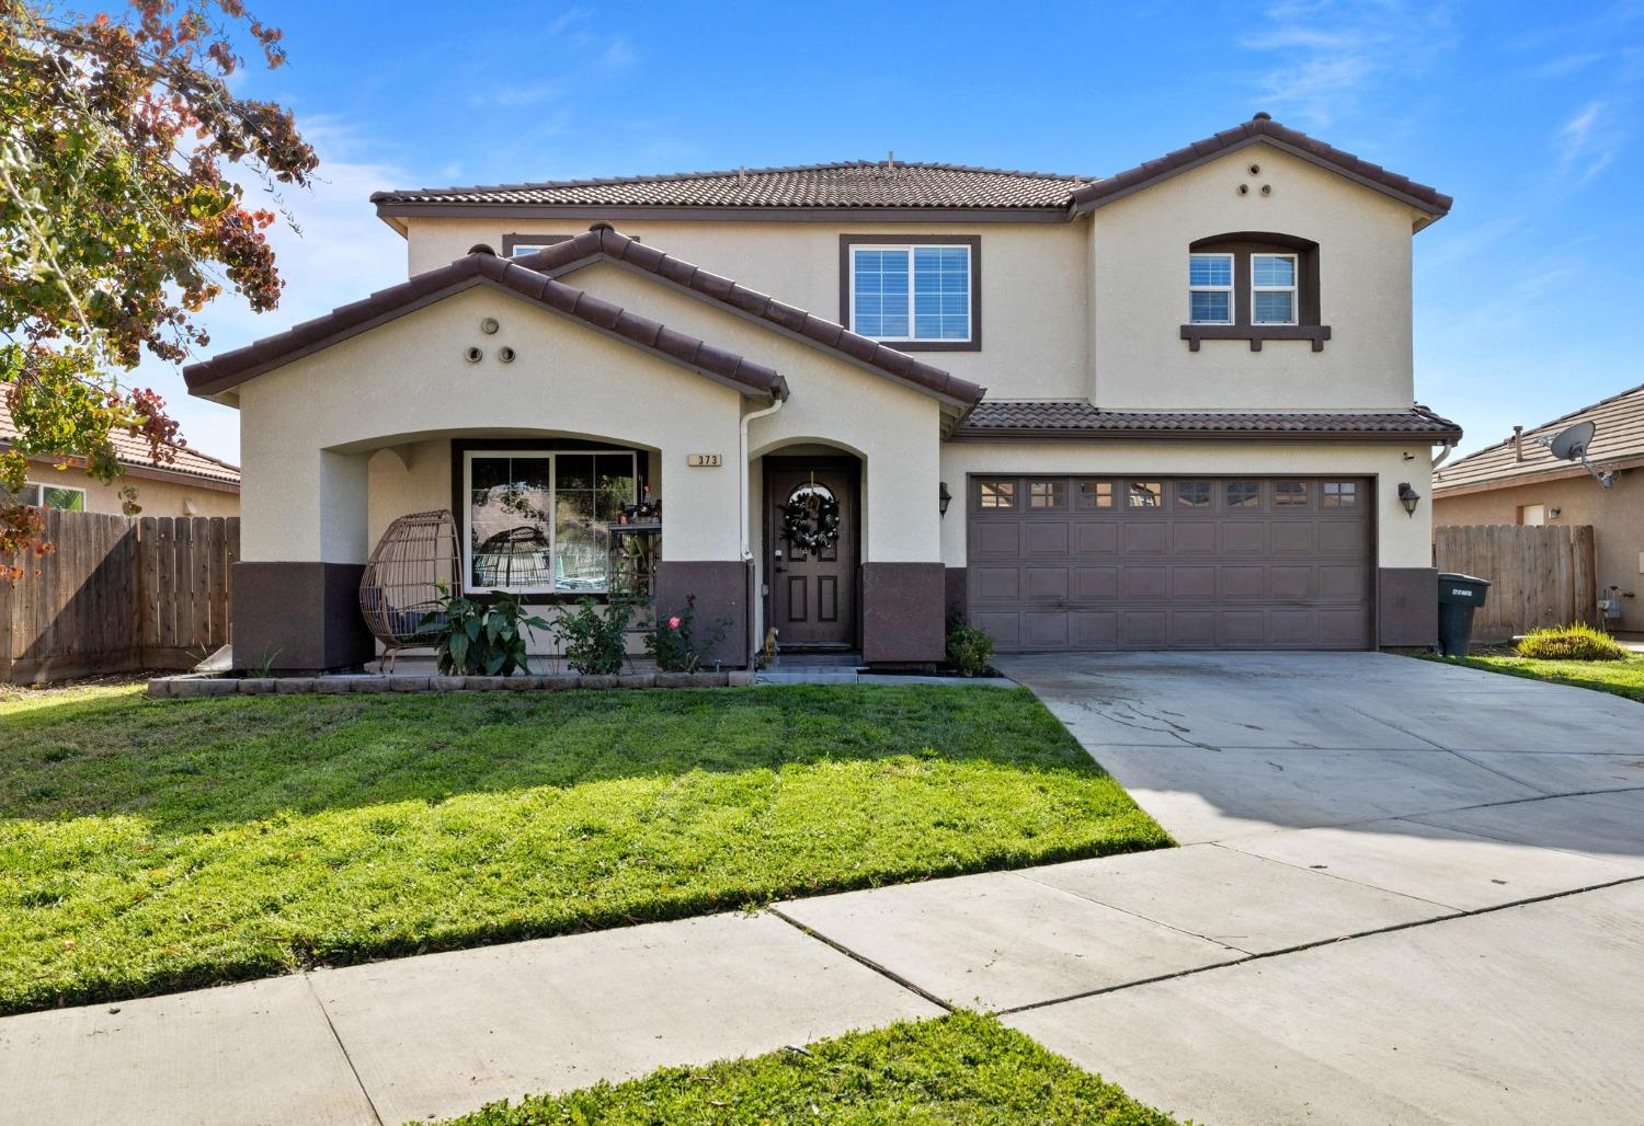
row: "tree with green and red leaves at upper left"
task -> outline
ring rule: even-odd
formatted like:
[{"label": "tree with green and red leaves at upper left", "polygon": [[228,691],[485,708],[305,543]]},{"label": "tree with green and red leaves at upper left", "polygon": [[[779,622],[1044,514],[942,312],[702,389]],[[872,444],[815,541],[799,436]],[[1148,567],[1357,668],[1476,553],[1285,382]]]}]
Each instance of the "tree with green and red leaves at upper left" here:
[{"label": "tree with green and red leaves at upper left", "polygon": [[273,196],[319,161],[288,110],[230,90],[242,38],[284,62],[279,31],[240,0],[0,0],[0,395],[20,431],[0,450],[0,580],[49,549],[38,510],[13,500],[31,457],[112,482],[110,434],[146,437],[159,460],[181,445],[164,401],[117,371],[209,344],[194,317],[224,289],[258,312],[279,302],[276,215],[229,171]]}]

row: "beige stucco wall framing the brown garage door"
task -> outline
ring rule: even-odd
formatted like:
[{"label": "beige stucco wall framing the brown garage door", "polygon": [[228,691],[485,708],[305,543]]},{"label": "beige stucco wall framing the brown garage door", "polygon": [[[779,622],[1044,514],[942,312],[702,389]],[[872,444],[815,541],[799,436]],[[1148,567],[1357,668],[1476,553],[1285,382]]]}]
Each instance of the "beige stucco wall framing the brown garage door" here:
[{"label": "beige stucco wall framing the brown garage door", "polygon": [[1432,505],[1424,501],[1414,515],[1399,505],[1401,482],[1427,491],[1427,464],[1424,445],[950,442],[942,449],[942,478],[954,493],[942,519],[942,562],[965,565],[963,498],[972,473],[1342,475],[1374,478],[1376,564],[1432,567]]}]

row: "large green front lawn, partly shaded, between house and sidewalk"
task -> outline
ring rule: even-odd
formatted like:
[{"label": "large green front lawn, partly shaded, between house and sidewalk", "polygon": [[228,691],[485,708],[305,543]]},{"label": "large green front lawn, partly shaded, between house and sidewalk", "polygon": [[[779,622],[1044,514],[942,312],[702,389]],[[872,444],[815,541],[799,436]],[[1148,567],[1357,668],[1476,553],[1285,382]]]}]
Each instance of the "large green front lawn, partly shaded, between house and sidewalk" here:
[{"label": "large green front lawn, partly shaded, between house and sidewalk", "polygon": [[1171,840],[1026,690],[0,697],[0,1013]]}]

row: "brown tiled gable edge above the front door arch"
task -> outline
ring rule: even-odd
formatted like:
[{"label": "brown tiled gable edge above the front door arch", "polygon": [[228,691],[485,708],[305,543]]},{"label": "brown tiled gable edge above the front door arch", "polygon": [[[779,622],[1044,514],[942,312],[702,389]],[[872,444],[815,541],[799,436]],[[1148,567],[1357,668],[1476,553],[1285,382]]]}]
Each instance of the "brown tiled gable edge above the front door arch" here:
[{"label": "brown tiled gable edge above the front door arch", "polygon": [[796,306],[783,304],[758,289],[750,289],[730,278],[720,278],[700,266],[663,253],[656,247],[646,247],[620,233],[610,224],[593,224],[575,238],[567,238],[513,261],[546,275],[564,273],[593,261],[612,261],[640,273],[654,275],[694,298],[722,306],[745,319],[761,322],[802,344],[842,355],[858,367],[870,368],[917,391],[935,395],[955,406],[973,406],[986,393],[985,388],[949,375],[942,368],[921,363],[906,352],[898,352],[878,340],[870,340],[865,335],[852,332],[837,321],[827,321]]}]

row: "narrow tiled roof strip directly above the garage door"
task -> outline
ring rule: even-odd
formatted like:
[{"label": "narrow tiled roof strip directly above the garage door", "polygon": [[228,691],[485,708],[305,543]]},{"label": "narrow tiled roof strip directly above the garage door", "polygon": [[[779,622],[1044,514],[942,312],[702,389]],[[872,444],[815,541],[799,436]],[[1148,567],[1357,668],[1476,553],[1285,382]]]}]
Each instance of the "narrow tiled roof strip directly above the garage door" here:
[{"label": "narrow tiled roof strip directly above the garage door", "polygon": [[1462,427],[1424,406],[1345,411],[1100,411],[1083,399],[983,401],[954,437],[1136,439],[1213,437],[1305,442],[1457,442]]}]

